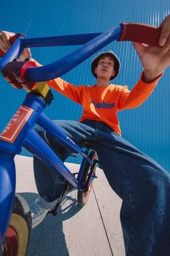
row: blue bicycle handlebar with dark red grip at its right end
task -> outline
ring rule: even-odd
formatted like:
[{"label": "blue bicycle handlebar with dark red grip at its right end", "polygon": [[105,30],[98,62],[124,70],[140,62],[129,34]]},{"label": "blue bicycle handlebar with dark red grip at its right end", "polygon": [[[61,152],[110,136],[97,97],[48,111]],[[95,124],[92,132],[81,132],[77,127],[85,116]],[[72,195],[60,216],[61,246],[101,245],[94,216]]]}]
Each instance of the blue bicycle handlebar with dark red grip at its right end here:
[{"label": "blue bicycle handlebar with dark red grip at its right end", "polygon": [[[68,56],[65,56],[52,64],[47,64],[42,67],[29,67],[25,73],[28,80],[41,82],[52,80],[56,77],[61,77],[69,70],[79,65],[89,56],[99,51],[99,49],[107,46],[113,40],[131,40],[139,43],[146,43],[152,46],[158,46],[158,39],[161,35],[161,27],[153,27],[139,23],[122,23],[117,27],[112,27],[104,33],[91,33],[80,35],[64,35],[50,38],[31,38],[24,39],[24,36],[19,34],[17,40],[12,44],[9,51],[6,52],[3,59],[0,61],[0,72],[4,66],[17,58],[22,50],[26,47],[42,47],[42,46],[68,46],[82,45],[76,51],[73,51]],[[12,38],[11,40],[16,39]],[[1,54],[1,52],[0,52]]]}]

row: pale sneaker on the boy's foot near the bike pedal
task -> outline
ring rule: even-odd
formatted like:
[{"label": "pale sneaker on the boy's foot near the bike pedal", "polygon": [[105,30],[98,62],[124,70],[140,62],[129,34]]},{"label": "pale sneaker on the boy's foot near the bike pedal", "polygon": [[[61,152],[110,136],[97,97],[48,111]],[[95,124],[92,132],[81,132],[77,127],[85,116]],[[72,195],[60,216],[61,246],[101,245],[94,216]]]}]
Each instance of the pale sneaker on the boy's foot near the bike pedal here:
[{"label": "pale sneaker on the boy's foot near the bike pedal", "polygon": [[39,197],[35,200],[35,202],[32,202],[30,205],[32,215],[32,229],[34,229],[35,226],[39,225],[43,221],[49,211],[55,208],[58,200],[59,198],[53,202],[46,202],[42,199],[42,197]]}]

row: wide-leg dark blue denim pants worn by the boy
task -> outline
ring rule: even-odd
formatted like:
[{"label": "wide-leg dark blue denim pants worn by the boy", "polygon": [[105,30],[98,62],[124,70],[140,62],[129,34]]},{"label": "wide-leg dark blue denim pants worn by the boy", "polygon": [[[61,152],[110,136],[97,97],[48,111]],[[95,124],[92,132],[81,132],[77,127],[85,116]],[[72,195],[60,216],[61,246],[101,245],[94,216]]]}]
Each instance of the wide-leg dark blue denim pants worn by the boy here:
[{"label": "wide-leg dark blue denim pants worn by the boy", "polygon": [[[99,121],[55,121],[78,145],[91,140],[109,185],[122,199],[120,221],[126,255],[170,255],[170,175],[148,155]],[[64,161],[69,153],[40,127],[37,132]],[[53,201],[63,179],[34,159],[40,196]],[[58,187],[58,189],[56,189]]]}]

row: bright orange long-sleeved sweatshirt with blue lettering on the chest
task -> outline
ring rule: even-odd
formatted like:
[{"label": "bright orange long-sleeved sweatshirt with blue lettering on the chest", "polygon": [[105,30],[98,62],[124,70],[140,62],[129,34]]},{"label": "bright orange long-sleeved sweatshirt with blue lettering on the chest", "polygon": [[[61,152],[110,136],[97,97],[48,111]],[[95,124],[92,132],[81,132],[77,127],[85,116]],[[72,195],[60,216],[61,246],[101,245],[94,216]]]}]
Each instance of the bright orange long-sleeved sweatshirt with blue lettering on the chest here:
[{"label": "bright orange long-sleeved sweatshirt with blue lettering on the chest", "polygon": [[84,111],[80,121],[84,119],[103,121],[121,135],[117,111],[140,106],[151,95],[161,76],[149,84],[143,82],[141,77],[142,74],[131,91],[128,90],[128,86],[112,84],[108,87],[75,86],[59,77],[47,83],[51,88],[83,106]]}]

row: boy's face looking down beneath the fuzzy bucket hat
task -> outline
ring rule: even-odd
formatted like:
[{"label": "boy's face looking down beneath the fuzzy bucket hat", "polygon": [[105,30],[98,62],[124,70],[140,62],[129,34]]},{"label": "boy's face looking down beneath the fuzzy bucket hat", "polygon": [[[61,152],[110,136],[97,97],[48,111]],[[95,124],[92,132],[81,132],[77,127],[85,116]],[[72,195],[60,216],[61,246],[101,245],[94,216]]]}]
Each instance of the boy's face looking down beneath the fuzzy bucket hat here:
[{"label": "boy's face looking down beneath the fuzzy bucket hat", "polygon": [[94,69],[97,74],[97,79],[109,81],[110,77],[115,75],[115,62],[109,56],[104,56],[99,59],[97,67]]}]

